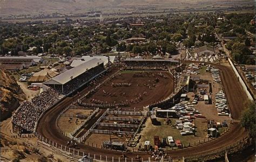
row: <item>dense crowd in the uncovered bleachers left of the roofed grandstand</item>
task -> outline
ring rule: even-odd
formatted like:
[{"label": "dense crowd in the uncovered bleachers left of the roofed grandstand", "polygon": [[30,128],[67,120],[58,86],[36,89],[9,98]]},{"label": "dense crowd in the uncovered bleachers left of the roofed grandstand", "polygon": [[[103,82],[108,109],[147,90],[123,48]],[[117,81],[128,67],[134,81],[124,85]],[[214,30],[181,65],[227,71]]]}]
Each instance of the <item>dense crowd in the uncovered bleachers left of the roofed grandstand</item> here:
[{"label": "dense crowd in the uncovered bleachers left of the roofed grandstand", "polygon": [[33,132],[39,116],[60,100],[60,94],[49,88],[32,99],[24,101],[12,116],[12,126],[15,130],[26,133]]}]

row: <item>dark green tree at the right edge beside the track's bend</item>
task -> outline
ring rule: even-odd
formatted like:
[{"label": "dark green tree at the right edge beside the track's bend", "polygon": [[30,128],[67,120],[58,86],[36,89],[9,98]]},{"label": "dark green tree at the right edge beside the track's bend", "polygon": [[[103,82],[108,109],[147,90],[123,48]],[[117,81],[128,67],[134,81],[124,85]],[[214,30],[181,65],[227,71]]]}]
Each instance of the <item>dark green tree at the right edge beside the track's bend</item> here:
[{"label": "dark green tree at the right edge beside the track's bend", "polygon": [[252,138],[255,138],[255,103],[252,102],[247,102],[246,104],[246,109],[242,113],[241,117],[241,125],[249,131],[249,134]]}]

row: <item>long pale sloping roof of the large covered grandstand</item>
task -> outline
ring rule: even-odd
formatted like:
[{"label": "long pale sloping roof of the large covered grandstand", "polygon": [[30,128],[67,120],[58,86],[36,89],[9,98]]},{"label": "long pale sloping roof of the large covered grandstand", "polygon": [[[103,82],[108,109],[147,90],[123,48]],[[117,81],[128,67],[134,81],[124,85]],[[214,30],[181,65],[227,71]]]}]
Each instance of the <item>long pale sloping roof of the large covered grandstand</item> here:
[{"label": "long pale sloping roof of the large covered grandstand", "polygon": [[94,58],[78,65],[77,67],[71,68],[69,71],[55,76],[54,78],[44,82],[44,84],[65,84],[70,81],[71,76],[73,76],[73,79],[75,79],[77,76],[83,74],[86,69],[91,69],[99,64],[103,64],[103,61]]}]

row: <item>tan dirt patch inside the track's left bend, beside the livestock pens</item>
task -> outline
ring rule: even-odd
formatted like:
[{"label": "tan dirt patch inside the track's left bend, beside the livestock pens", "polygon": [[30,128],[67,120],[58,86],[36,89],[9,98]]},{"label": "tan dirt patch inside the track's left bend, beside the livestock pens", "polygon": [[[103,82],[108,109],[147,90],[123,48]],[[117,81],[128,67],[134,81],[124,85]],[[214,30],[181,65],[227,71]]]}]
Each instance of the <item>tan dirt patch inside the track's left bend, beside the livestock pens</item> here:
[{"label": "tan dirt patch inside the track's left bend, beside the livestock pens", "polygon": [[58,121],[59,128],[65,133],[72,133],[74,130],[78,128],[78,126],[84,123],[86,118],[81,119],[78,117],[69,117],[69,115],[89,116],[92,112],[93,110],[87,110],[87,109],[68,109],[62,116],[59,117],[59,121]]}]

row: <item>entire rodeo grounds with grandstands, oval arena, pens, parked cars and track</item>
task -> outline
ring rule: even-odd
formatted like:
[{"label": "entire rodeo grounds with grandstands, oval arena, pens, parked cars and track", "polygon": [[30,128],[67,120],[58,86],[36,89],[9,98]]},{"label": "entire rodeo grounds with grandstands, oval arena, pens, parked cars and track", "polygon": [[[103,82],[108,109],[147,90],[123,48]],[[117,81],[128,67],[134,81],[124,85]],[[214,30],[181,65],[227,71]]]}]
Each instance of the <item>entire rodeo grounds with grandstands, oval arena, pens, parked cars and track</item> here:
[{"label": "entire rodeo grounds with grandstands, oval arena, pens, parked cars and track", "polygon": [[45,81],[14,112],[12,129],[75,161],[223,158],[248,140],[235,122],[236,98],[247,95],[232,71],[210,62],[96,57]]}]

